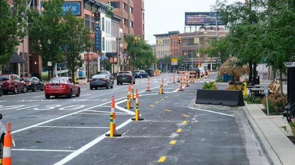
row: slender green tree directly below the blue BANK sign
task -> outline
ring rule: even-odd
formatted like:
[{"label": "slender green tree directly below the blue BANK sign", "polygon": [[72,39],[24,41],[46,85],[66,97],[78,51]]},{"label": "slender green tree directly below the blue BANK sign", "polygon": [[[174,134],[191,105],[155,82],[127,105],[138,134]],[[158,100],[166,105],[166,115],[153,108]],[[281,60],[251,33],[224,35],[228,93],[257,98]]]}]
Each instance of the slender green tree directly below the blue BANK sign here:
[{"label": "slender green tree directly below the blue BANK sign", "polygon": [[63,16],[63,21],[65,40],[62,43],[62,51],[74,79],[75,71],[81,64],[81,53],[91,47],[90,31],[84,27],[84,20],[77,18],[71,10]]}]

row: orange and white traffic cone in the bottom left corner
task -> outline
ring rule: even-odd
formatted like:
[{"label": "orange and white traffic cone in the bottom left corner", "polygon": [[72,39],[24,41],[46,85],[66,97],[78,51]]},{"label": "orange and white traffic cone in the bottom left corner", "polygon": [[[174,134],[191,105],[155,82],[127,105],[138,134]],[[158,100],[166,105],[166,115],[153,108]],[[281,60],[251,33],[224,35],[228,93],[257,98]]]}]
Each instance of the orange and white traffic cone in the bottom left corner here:
[{"label": "orange and white traffic cone in the bottom left corner", "polygon": [[4,146],[3,146],[3,164],[11,165],[11,129],[10,122],[7,122],[7,133],[4,135]]}]

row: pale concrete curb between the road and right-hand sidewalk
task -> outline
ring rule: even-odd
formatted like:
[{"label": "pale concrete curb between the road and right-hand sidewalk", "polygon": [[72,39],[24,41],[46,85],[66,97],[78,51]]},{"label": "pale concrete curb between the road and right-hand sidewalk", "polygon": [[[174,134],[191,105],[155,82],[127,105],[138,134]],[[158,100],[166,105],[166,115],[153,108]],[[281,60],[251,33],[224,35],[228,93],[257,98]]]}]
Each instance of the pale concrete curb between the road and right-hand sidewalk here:
[{"label": "pale concrete curb between the road and right-hand sidewalk", "polygon": [[[246,104],[246,103],[245,103]],[[269,142],[267,141],[265,135],[255,122],[255,120],[252,118],[250,115],[248,109],[247,109],[247,104],[243,107],[243,116],[246,119],[248,125],[250,126],[251,130],[253,131],[253,134],[255,138],[257,139],[262,152],[264,153],[267,162],[270,165],[283,165],[282,162],[280,161],[280,158],[278,155],[275,153]]]}]

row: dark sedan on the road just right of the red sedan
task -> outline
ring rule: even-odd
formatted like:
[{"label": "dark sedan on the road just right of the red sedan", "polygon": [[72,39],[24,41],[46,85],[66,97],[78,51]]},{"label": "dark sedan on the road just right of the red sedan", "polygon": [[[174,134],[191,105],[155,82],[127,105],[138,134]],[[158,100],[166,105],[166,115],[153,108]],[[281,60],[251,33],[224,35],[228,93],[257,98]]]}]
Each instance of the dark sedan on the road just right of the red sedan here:
[{"label": "dark sedan on the road just right of the red sedan", "polygon": [[114,81],[108,74],[96,74],[90,79],[90,90],[93,88],[113,88]]}]

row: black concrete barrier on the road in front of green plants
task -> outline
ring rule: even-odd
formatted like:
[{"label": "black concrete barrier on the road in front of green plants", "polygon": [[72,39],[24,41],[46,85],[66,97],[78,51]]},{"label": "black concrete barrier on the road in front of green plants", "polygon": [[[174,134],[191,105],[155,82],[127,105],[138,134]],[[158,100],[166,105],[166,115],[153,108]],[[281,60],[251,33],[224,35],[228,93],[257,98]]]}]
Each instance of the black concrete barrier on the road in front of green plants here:
[{"label": "black concrete barrier on the road in front of green plants", "polygon": [[196,104],[244,106],[242,91],[236,90],[197,90]]}]

